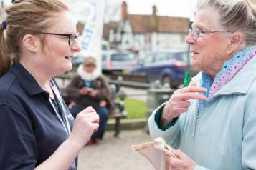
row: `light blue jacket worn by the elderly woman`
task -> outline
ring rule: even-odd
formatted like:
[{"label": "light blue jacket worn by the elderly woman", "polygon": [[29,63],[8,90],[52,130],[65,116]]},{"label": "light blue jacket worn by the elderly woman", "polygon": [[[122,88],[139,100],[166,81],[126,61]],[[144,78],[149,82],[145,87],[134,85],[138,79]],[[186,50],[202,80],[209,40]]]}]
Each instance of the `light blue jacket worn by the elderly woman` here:
[{"label": "light blue jacket worn by the elderly woman", "polygon": [[[197,75],[200,76],[201,73]],[[170,146],[184,151],[198,164],[195,169],[256,169],[255,80],[253,57],[207,101],[200,113],[197,101],[191,100],[189,111],[162,131],[155,122],[154,111],[148,119],[151,137],[161,136]]]}]

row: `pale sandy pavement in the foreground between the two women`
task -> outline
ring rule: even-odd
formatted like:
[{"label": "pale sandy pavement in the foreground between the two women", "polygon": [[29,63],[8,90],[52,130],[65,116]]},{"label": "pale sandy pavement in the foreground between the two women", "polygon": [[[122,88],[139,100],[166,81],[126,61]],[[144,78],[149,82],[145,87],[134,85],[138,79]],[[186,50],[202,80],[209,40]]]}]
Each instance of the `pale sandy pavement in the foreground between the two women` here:
[{"label": "pale sandy pavement in the foreground between the two women", "polygon": [[103,141],[80,151],[79,170],[153,170],[144,156],[131,149],[133,144],[152,141],[145,129],[122,131],[120,138],[113,134],[113,131],[106,131]]}]

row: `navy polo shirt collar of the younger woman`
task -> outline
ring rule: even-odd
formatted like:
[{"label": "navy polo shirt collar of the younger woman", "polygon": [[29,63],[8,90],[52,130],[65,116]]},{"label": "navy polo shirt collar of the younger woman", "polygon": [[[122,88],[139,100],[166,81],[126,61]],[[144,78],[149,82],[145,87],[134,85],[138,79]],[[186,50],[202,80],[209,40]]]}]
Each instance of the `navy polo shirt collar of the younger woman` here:
[{"label": "navy polo shirt collar of the younger woman", "polygon": [[24,91],[26,91],[29,96],[34,96],[36,94],[45,92],[41,86],[39,86],[34,77],[29,73],[29,71],[27,71],[27,69],[25,69],[24,66],[22,66],[22,64],[19,62],[14,62],[10,71],[14,73],[16,79],[19,80]]}]

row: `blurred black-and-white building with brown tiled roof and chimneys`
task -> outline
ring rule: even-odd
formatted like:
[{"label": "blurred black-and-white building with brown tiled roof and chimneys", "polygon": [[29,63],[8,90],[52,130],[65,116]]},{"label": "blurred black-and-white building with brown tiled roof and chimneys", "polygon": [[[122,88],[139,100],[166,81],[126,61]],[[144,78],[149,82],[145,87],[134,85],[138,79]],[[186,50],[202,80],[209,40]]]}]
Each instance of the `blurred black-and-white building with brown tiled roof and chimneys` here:
[{"label": "blurred black-and-white building with brown tiled roof and chimneys", "polygon": [[186,49],[189,18],[157,16],[156,6],[151,15],[128,14],[125,1],[121,20],[104,25],[103,39],[114,49],[146,51],[158,49]]}]

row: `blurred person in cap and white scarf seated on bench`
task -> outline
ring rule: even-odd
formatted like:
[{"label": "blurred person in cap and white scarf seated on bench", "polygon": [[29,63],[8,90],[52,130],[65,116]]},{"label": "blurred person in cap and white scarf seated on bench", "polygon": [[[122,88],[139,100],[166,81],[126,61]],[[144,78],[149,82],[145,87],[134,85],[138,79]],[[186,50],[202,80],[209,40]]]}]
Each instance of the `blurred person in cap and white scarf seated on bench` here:
[{"label": "blurred person in cap and white scarf seated on bench", "polygon": [[108,82],[96,71],[96,66],[95,58],[87,56],[66,89],[71,101],[70,113],[74,117],[87,106],[92,106],[99,114],[100,126],[92,136],[93,142],[103,139],[108,121],[108,110],[112,106]]}]

